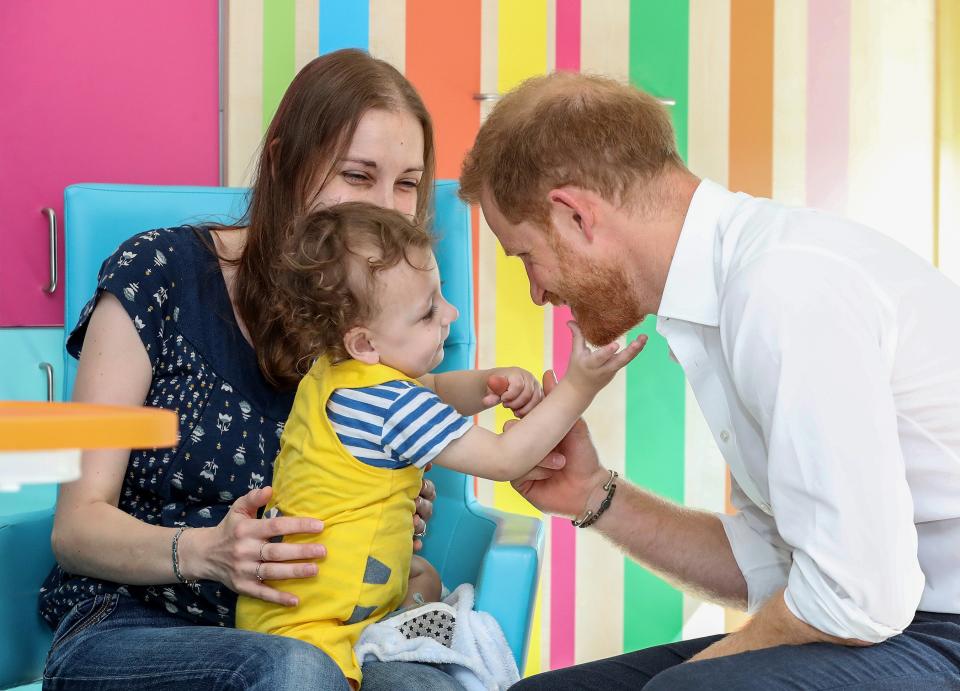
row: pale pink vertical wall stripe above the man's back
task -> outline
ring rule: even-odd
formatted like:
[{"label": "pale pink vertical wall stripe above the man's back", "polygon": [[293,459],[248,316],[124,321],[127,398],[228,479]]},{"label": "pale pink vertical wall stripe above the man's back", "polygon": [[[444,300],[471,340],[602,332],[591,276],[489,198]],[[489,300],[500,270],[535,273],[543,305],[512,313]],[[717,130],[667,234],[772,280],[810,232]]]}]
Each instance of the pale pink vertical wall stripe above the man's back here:
[{"label": "pale pink vertical wall stripe above the man's back", "polygon": [[807,203],[844,213],[850,144],[850,0],[810,0]]}]

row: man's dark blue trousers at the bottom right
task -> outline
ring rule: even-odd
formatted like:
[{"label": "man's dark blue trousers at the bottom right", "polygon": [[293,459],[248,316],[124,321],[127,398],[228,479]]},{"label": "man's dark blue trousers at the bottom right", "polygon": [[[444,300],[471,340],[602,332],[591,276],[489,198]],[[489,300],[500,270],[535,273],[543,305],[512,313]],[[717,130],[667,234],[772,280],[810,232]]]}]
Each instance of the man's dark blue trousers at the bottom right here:
[{"label": "man's dark blue trousers at the bottom right", "polygon": [[638,650],[524,679],[514,691],[946,691],[960,689],[960,615],[917,612],[869,648],[779,646],[681,664],[723,636]]}]

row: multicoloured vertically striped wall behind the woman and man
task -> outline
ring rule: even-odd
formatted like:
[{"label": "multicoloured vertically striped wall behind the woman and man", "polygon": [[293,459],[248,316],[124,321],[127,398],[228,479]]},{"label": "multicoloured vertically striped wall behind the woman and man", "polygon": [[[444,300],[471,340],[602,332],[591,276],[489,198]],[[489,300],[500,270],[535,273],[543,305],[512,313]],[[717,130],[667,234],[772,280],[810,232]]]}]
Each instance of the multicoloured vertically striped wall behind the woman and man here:
[{"label": "multicoloured vertically striped wall behind the woman and man", "polygon": [[[610,75],[668,101],[694,172],[733,189],[867,222],[960,280],[957,0],[233,0],[226,26],[228,184],[250,174],[296,69],[370,50],[420,89],[439,175],[504,92],[554,69]],[[478,360],[562,371],[565,310],[527,298],[522,267],[476,217]],[[652,324],[641,330],[655,335]],[[604,462],[722,511],[725,468],[679,367],[652,338],[587,414]],[[480,416],[499,428],[502,411]],[[532,511],[509,486],[482,501]],[[527,673],[721,632],[736,613],[651,576],[591,532],[548,521]]]}]

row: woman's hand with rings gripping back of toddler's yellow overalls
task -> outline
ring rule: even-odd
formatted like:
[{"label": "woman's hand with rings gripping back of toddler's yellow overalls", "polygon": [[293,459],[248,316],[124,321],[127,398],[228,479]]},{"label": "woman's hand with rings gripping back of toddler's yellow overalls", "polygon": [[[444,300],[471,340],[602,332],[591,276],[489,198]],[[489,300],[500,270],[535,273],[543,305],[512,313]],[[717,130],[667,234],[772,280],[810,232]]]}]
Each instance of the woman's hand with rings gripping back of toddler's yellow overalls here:
[{"label": "woman's hand with rings gripping back of toddler's yellow overalls", "polygon": [[316,563],[287,563],[321,559],[327,554],[320,544],[270,542],[282,535],[317,534],[323,522],[313,518],[277,516],[257,518],[273,493],[264,487],[237,499],[215,528],[194,528],[180,538],[181,569],[186,578],[223,583],[242,595],[295,607],[297,598],[261,582],[309,578],[317,574]]}]

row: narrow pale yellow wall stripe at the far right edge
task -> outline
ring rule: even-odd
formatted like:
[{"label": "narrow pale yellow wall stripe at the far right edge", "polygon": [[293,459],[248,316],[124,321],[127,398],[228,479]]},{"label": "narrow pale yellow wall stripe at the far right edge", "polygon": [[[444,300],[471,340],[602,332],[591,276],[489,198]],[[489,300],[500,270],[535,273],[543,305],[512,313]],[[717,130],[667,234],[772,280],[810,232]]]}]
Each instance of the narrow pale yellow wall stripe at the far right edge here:
[{"label": "narrow pale yellow wall stripe at the far right edge", "polygon": [[960,2],[940,0],[937,30],[934,259],[960,283]]}]

